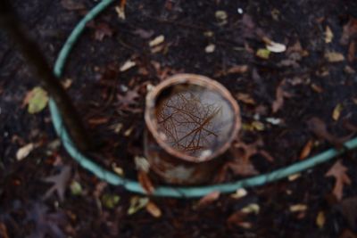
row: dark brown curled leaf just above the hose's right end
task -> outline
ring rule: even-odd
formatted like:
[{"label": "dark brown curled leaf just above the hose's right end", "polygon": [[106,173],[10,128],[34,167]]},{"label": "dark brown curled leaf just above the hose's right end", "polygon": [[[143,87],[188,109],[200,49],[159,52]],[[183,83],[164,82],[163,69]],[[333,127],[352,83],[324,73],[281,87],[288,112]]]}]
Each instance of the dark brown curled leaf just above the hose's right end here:
[{"label": "dark brown curled leaf just above the hose's right end", "polygon": [[328,127],[325,122],[319,118],[311,118],[307,121],[307,126],[313,134],[318,136],[320,139],[327,140],[328,143],[333,144],[337,149],[342,149],[344,147],[345,141],[351,138],[352,135],[347,135],[342,138],[337,138],[328,132]]}]

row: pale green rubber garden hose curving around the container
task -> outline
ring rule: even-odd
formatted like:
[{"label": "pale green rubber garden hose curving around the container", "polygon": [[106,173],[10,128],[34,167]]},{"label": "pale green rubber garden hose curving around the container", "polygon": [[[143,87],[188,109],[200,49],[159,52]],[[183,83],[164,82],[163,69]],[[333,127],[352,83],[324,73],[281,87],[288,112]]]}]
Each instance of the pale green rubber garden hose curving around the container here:
[{"label": "pale green rubber garden hose curving around the container", "polygon": [[[66,43],[63,45],[61,52],[57,58],[54,65],[54,74],[57,78],[62,75],[63,66],[66,59],[71,53],[73,45],[78,40],[80,34],[86,27],[87,21],[91,21],[95,16],[104,11],[104,9],[112,4],[114,0],[103,0],[101,3],[97,4],[90,12],[87,13],[86,17],[79,21],[79,24],[71,32],[71,36],[67,39]],[[62,144],[66,151],[71,155],[71,157],[79,162],[79,164],[86,168],[88,171],[92,172],[98,178],[104,180],[111,185],[121,185],[125,187],[130,192],[143,193],[145,190],[143,187],[135,180],[131,180],[125,177],[117,176],[113,172],[102,168],[92,160],[88,159],[83,155],[76,146],[72,143],[70,135],[68,134],[66,128],[63,126],[62,117],[60,111],[53,100],[49,103],[51,116],[54,123],[54,128],[56,133],[61,137]],[[345,143],[345,150],[336,151],[335,149],[329,149],[325,152],[321,152],[318,155],[312,156],[309,159],[296,162],[295,164],[289,165],[285,168],[279,168],[270,173],[263,174],[260,176],[253,176],[245,178],[236,182],[219,184],[219,185],[206,185],[206,186],[190,186],[190,187],[175,187],[175,186],[158,186],[156,187],[152,195],[163,196],[163,197],[176,197],[176,198],[192,198],[192,197],[202,197],[208,193],[219,191],[220,193],[234,193],[239,188],[243,187],[253,187],[258,185],[265,185],[267,183],[277,181],[286,176],[290,176],[299,172],[302,172],[308,168],[313,168],[316,165],[326,162],[335,158],[337,155],[342,154],[345,151],[352,150],[357,147],[357,137]]]}]

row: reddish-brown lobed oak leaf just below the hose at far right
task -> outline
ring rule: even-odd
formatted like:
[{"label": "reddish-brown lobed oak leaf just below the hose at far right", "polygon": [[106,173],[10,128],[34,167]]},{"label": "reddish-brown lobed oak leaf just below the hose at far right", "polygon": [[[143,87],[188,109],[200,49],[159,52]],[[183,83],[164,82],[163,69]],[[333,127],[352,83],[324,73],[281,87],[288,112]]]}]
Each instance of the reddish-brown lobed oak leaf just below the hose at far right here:
[{"label": "reddish-brown lobed oak leaf just below the hose at far right", "polygon": [[337,200],[341,200],[344,193],[344,185],[350,185],[351,179],[346,174],[348,168],[342,164],[341,160],[337,160],[336,163],[328,170],[325,176],[334,176],[336,178],[335,186],[332,193],[336,196]]}]

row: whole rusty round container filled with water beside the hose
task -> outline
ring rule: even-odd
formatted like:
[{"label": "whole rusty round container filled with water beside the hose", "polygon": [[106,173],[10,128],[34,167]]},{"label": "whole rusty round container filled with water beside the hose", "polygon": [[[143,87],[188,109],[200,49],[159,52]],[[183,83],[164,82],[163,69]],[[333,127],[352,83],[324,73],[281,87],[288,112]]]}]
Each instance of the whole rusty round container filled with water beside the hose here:
[{"label": "whole rusty round container filled with water beside the hose", "polygon": [[171,184],[209,182],[241,126],[237,101],[215,80],[178,74],[146,95],[145,157]]}]

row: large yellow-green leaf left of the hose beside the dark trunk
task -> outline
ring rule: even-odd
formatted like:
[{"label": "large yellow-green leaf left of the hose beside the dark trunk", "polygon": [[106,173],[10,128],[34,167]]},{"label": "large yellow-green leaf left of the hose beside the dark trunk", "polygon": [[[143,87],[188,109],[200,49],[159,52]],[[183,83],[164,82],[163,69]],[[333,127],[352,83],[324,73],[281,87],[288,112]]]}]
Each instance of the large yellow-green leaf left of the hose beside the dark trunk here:
[{"label": "large yellow-green leaf left of the hose beside the dark trunk", "polygon": [[26,99],[29,103],[29,113],[34,114],[46,108],[48,103],[48,94],[44,89],[42,89],[42,87],[36,86],[29,92]]}]

